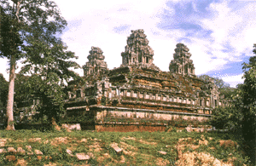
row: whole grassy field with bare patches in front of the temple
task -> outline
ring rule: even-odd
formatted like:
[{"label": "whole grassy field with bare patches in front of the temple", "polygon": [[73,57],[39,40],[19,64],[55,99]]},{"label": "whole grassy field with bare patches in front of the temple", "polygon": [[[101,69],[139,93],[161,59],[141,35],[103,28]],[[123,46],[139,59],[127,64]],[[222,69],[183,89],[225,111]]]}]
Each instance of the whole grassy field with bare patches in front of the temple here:
[{"label": "whole grassy field with bare patches in front of the temple", "polygon": [[[231,134],[170,132],[40,132],[0,130],[0,165],[245,165],[241,142]],[[115,144],[122,152],[115,152]],[[27,146],[33,154],[27,154]],[[10,152],[22,148],[26,154]],[[1,150],[2,149],[2,150]],[[67,149],[74,156],[67,153]],[[37,155],[35,150],[43,152]],[[5,152],[4,152],[5,151]],[[85,153],[82,160],[76,153]]]}]

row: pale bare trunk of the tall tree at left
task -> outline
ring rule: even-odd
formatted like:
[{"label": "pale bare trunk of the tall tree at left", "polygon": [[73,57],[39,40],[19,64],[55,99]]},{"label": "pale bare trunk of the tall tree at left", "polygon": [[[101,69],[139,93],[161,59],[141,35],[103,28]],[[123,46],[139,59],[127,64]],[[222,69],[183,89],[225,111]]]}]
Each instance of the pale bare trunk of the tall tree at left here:
[{"label": "pale bare trunk of the tall tree at left", "polygon": [[8,93],[7,108],[6,108],[6,115],[8,117],[6,130],[15,130],[14,94],[15,94],[15,55],[12,55],[10,60],[9,93]]}]

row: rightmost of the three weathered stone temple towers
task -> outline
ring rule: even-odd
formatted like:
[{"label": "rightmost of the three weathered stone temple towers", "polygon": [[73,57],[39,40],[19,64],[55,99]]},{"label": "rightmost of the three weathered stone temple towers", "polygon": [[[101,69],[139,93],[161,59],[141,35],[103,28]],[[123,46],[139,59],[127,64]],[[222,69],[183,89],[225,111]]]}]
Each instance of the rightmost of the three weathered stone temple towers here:
[{"label": "rightmost of the three weathered stone temple towers", "polygon": [[183,43],[177,43],[173,59],[170,63],[170,72],[182,75],[195,75],[193,60],[190,60],[189,49]]}]

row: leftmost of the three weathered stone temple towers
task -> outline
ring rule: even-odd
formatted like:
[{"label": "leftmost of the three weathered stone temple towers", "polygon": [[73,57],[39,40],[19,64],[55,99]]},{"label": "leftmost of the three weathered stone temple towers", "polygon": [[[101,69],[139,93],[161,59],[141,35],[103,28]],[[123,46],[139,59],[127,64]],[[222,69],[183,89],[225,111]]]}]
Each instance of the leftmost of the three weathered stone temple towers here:
[{"label": "leftmost of the three weathered stone temple towers", "polygon": [[107,63],[104,61],[105,56],[103,55],[102,49],[91,47],[89,53],[90,54],[87,56],[89,61],[83,66],[84,76],[98,74],[108,69]]}]

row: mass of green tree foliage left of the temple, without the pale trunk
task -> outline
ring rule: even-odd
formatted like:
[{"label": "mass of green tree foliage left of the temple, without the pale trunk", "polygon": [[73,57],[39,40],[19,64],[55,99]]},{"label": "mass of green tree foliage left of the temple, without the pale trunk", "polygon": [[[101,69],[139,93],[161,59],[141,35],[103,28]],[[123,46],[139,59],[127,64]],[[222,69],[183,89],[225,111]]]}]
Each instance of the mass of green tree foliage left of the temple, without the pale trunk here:
[{"label": "mass of green tree foliage left of the temple, without the pale trunk", "polygon": [[[20,2],[20,1],[18,1]],[[65,82],[78,75],[70,68],[78,68],[79,65],[71,61],[75,58],[73,52],[67,51],[67,46],[57,37],[67,26],[67,21],[61,17],[59,9],[54,2],[48,0],[23,0],[12,7],[11,3],[0,2],[3,5],[3,21],[7,21],[1,29],[4,35],[13,35],[11,42],[2,36],[3,46],[0,50],[3,55],[10,55],[12,47],[22,51],[25,66],[22,67],[18,83],[16,83],[16,101],[37,98],[42,102],[35,111],[40,112],[40,117],[59,117],[64,111],[63,100]],[[16,6],[16,7],[15,7]],[[22,8],[15,17],[14,11]],[[8,19],[5,19],[8,18]],[[19,24],[18,24],[19,22]],[[17,24],[16,24],[17,23]],[[13,28],[13,29],[11,29]],[[6,39],[6,40],[5,40]],[[17,44],[26,43],[20,45]],[[12,49],[13,50],[13,49]],[[18,51],[15,50],[18,54]],[[31,77],[22,76],[30,74]]]}]

